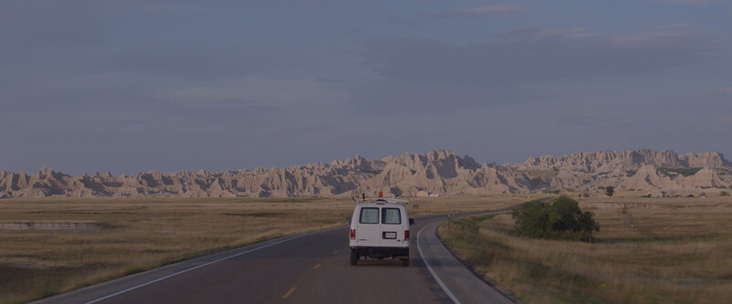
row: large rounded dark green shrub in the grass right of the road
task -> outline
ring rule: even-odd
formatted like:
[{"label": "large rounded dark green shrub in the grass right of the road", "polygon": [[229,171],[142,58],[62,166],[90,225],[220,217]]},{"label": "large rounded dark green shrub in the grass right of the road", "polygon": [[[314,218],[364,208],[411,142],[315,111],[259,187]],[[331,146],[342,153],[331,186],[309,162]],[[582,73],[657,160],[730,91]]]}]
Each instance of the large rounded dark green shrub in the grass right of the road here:
[{"label": "large rounded dark green shrub in the grass right of the road", "polygon": [[591,241],[600,225],[591,212],[582,212],[577,201],[561,196],[551,203],[530,201],[514,210],[521,236]]}]

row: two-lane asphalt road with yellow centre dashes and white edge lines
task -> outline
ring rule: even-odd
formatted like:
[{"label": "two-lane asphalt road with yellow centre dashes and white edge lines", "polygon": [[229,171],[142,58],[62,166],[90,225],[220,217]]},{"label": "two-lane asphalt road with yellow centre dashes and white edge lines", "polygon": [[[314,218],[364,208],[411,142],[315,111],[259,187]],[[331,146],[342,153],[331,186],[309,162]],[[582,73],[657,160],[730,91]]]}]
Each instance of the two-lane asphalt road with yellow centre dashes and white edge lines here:
[{"label": "two-lane asphalt road with yellow centre dashes and white edge lines", "polygon": [[439,242],[435,228],[445,219],[416,219],[410,267],[392,259],[361,259],[350,266],[344,225],[183,261],[37,303],[512,303]]}]

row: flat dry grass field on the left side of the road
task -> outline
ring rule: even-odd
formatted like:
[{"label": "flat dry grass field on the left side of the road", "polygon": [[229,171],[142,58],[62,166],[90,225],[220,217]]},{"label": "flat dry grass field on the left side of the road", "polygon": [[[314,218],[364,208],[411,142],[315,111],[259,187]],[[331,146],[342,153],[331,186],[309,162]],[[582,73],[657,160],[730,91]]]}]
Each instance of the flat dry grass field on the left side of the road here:
[{"label": "flat dry grass field on the left side of the road", "polygon": [[[410,200],[415,217],[496,209],[526,198]],[[43,198],[0,200],[0,209],[0,303],[15,303],[226,248],[345,225],[353,204],[349,198]],[[35,228],[18,229],[29,225]]]}]

